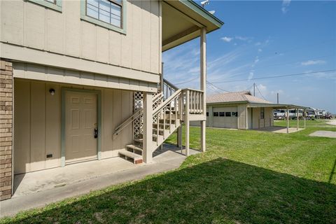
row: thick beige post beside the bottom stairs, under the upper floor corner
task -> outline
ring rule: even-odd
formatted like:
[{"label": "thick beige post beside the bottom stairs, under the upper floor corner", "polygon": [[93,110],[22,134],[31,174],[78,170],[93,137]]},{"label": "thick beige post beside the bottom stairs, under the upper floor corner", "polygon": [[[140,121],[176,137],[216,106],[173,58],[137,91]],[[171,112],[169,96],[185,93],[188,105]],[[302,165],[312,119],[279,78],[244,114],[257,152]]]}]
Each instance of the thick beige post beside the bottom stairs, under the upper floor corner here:
[{"label": "thick beige post beside the bottom stairs, under the upper floor corner", "polygon": [[145,163],[153,162],[153,94],[144,92],[144,144],[143,160]]}]

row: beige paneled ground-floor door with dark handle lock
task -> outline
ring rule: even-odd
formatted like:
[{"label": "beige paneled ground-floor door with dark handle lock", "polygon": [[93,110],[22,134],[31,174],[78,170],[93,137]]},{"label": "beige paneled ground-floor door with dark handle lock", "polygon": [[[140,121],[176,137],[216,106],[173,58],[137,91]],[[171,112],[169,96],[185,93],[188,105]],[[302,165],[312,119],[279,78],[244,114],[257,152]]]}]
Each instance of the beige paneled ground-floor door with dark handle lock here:
[{"label": "beige paneled ground-floor door with dark handle lock", "polygon": [[66,92],[65,162],[97,158],[97,94]]}]

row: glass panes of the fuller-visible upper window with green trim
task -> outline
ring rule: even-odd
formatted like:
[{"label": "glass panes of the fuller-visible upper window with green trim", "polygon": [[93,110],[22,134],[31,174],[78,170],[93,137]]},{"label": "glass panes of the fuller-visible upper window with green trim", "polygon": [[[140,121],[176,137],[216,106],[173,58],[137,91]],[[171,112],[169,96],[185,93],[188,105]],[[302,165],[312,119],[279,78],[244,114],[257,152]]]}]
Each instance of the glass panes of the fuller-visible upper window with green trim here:
[{"label": "glass panes of the fuller-visible upper window with green trim", "polygon": [[115,27],[123,28],[123,1],[86,0],[86,15]]}]

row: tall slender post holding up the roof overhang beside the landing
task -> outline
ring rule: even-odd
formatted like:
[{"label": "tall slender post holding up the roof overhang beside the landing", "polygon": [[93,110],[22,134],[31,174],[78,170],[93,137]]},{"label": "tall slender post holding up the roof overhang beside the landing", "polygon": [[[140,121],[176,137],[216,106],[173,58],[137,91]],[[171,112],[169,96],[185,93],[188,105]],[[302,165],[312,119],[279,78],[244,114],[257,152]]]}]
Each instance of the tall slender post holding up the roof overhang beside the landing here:
[{"label": "tall slender post holding up the roof overhang beside the landing", "polygon": [[201,90],[203,91],[202,108],[205,120],[201,120],[201,151],[206,151],[206,123],[207,123],[207,29],[205,27],[201,28],[201,39],[200,39],[200,78],[201,78]]}]

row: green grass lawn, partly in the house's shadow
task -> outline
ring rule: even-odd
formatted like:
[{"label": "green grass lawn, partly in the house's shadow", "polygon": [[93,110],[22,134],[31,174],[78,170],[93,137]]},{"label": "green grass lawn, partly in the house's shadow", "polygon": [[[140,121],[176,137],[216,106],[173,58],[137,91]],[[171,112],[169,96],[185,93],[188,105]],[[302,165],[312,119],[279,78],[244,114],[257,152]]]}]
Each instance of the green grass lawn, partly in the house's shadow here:
[{"label": "green grass lawn, partly in the house's shadow", "polygon": [[[207,129],[207,152],[179,169],[0,223],[336,223],[336,139],[309,137],[315,130],[336,126],[307,121],[292,134]],[[200,148],[200,128],[190,132],[190,146]]]}]

